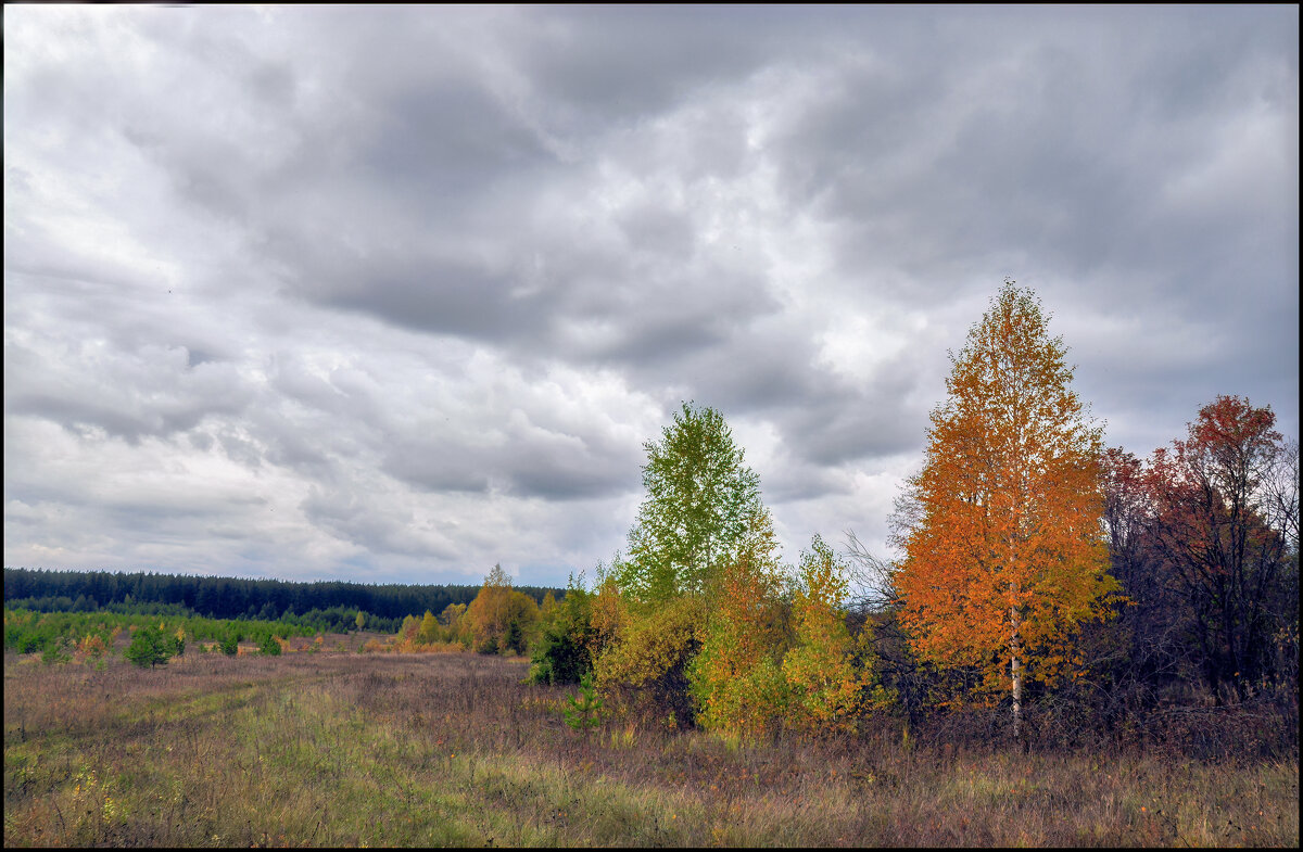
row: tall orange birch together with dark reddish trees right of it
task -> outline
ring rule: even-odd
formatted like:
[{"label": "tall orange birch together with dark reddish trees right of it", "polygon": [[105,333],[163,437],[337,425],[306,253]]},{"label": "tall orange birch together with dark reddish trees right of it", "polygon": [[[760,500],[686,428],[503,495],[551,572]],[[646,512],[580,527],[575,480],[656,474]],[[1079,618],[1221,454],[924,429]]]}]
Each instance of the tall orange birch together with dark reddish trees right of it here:
[{"label": "tall orange birch together with dark reddish trees right of it", "polygon": [[1007,702],[1015,733],[1028,697],[1110,726],[1200,696],[1296,718],[1296,443],[1220,396],[1148,461],[1105,448],[1065,356],[1012,281],[952,356],[894,518],[887,683],[912,707]]}]

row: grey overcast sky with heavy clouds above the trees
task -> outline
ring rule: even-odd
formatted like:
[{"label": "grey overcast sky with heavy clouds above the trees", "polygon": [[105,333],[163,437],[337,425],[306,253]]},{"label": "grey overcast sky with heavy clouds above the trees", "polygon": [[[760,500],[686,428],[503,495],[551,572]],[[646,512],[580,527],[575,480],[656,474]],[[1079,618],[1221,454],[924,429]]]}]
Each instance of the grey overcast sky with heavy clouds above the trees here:
[{"label": "grey overcast sky with heavy clouds above the trees", "polygon": [[891,555],[1006,276],[1296,436],[1298,132],[1296,5],[8,5],[5,565],[564,585],[681,400]]}]

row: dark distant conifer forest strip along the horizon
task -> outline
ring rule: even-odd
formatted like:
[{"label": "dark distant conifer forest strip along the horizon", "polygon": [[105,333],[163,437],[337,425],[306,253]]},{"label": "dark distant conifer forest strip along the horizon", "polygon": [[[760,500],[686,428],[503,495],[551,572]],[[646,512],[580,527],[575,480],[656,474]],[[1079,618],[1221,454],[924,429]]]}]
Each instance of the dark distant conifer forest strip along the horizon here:
[{"label": "dark distant conifer forest strip along the horizon", "polygon": [[[536,603],[562,589],[516,586]],[[36,612],[197,615],[208,619],[281,620],[345,611],[366,614],[369,629],[395,631],[403,618],[435,615],[453,603],[469,604],[480,585],[369,585],[343,581],[288,582],[190,575],[109,573],[5,568],[4,602]],[[297,619],[296,619],[297,620]],[[356,625],[354,625],[356,629]]]}]

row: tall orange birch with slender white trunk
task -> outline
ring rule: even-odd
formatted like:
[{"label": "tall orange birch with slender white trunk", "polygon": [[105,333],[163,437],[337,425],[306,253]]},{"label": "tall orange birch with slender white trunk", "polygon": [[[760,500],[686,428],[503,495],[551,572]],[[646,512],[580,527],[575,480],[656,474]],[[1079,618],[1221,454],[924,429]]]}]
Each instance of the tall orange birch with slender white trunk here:
[{"label": "tall orange birch with slender white trunk", "polygon": [[1117,582],[1100,486],[1102,430],[1070,390],[1061,337],[1040,302],[1005,281],[933,409],[917,516],[903,535],[900,619],[920,658],[971,666],[1012,698],[1053,680],[1075,628],[1102,618]]}]

